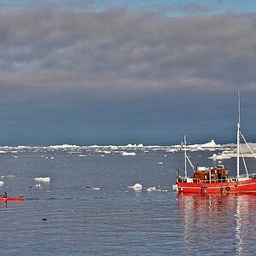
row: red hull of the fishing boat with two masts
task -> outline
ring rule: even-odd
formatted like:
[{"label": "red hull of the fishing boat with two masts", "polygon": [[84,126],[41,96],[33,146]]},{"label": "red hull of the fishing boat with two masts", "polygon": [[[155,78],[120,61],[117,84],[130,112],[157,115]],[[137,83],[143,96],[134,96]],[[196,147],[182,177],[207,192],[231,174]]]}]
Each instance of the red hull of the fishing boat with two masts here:
[{"label": "red hull of the fishing boat with two masts", "polygon": [[252,193],[256,178],[225,183],[177,183],[178,193]]}]

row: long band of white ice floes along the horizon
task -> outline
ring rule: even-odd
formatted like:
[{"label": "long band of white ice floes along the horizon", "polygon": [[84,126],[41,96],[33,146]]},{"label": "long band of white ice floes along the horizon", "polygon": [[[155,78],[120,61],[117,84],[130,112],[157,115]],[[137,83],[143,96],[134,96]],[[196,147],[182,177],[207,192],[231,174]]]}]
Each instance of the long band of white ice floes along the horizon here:
[{"label": "long band of white ice floes along the horizon", "polygon": [[[253,153],[256,154],[256,143],[248,143],[250,148],[253,149]],[[67,152],[68,154],[79,154],[81,157],[87,157],[90,154],[101,154],[105,156],[106,154],[120,154],[122,156],[136,156],[137,152],[143,152],[143,154],[150,153],[152,151],[164,151],[166,153],[177,153],[184,148],[180,145],[170,145],[170,146],[159,146],[159,145],[143,145],[139,144],[127,144],[127,145],[89,145],[89,146],[78,146],[70,144],[62,145],[50,145],[50,146],[2,146],[0,147],[0,154],[11,153],[14,154],[14,158],[17,158],[17,154],[21,152]],[[211,140],[209,143],[203,144],[188,144],[186,146],[187,151],[218,151],[212,153],[210,159],[221,160],[229,159],[236,156],[236,144],[217,144],[214,140]],[[253,157],[253,154],[247,148],[246,144],[241,144],[241,150],[245,157]],[[86,154],[87,153],[87,154]],[[42,155],[44,157],[44,155]],[[48,156],[46,157],[48,158]],[[51,156],[50,159],[54,159],[54,156]]]}]

